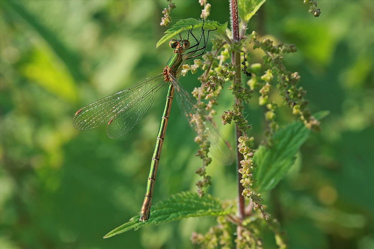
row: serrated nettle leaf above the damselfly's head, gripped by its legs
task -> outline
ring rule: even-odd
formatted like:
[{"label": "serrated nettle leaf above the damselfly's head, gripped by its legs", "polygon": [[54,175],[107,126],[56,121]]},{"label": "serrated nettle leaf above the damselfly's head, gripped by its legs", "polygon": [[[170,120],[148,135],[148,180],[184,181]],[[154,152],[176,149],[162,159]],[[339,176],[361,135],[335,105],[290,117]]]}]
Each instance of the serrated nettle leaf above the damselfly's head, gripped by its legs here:
[{"label": "serrated nettle leaf above the damselfly's head, gripped by its legs", "polygon": [[[200,29],[203,26],[203,21],[194,18],[179,20],[171,28],[165,31],[165,35],[157,42],[156,48],[158,48],[165,41],[169,41],[174,37],[179,37],[179,33],[190,30],[192,25],[194,30]],[[215,30],[215,32],[221,35],[226,35],[227,22],[220,24],[217,21],[205,20],[205,30],[212,30],[216,28],[217,30]]]}]

